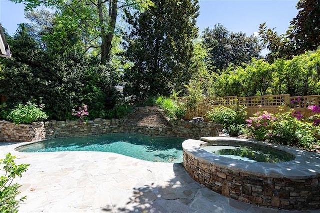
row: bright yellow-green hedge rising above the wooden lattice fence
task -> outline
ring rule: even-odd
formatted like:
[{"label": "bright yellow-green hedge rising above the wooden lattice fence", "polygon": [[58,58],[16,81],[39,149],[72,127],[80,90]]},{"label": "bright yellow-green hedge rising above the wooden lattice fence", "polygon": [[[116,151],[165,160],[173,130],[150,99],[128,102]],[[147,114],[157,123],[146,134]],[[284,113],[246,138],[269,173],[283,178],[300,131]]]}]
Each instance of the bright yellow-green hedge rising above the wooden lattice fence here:
[{"label": "bright yellow-green hedge rising above the wooden lattice fence", "polygon": [[274,63],[252,60],[245,67],[223,70],[213,85],[216,96],[255,96],[320,93],[320,50],[307,52],[291,60],[276,59]]}]

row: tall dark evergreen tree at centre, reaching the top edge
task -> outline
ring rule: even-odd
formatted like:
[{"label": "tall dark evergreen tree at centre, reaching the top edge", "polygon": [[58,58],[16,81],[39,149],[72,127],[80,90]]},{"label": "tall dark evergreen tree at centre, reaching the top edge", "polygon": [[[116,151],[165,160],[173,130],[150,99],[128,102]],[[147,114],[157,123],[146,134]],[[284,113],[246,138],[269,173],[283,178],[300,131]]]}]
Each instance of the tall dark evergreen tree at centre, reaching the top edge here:
[{"label": "tall dark evergreen tree at centre, reaching the top edge", "polygon": [[136,100],[183,90],[193,75],[193,39],[197,0],[154,0],[154,7],[130,14],[124,57],[133,66],[124,71],[124,92]]}]

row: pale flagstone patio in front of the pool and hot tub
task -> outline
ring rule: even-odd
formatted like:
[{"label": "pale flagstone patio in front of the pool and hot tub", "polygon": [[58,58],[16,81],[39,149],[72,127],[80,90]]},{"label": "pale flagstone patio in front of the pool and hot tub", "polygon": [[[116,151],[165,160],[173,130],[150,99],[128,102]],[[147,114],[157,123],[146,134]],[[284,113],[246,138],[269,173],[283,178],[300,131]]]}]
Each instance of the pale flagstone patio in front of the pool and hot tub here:
[{"label": "pale flagstone patio in front of the pool and hot tub", "polygon": [[16,179],[27,196],[19,212],[288,212],[221,196],[190,178],[182,164],[106,152],[22,153],[17,144],[3,144],[1,159],[11,152],[17,164],[30,164]]}]

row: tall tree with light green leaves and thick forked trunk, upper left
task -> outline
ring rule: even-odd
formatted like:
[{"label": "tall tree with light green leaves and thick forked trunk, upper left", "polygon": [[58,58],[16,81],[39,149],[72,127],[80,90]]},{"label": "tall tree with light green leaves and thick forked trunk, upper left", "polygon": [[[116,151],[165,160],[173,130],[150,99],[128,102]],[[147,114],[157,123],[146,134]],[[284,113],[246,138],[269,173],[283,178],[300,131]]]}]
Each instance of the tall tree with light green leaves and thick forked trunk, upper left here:
[{"label": "tall tree with light green leaves and thick forked trunk, upper left", "polygon": [[[43,4],[53,7],[60,14],[53,34],[46,38],[48,43],[71,47],[75,41],[81,40],[86,49],[100,49],[101,63],[111,59],[113,37],[116,33],[118,13],[123,8],[144,9],[152,5],[150,0],[11,0],[24,2],[25,9],[32,10]],[[76,38],[73,42],[72,38]],[[62,38],[62,41],[60,41]],[[61,43],[62,42],[62,43]],[[64,42],[64,43],[63,43]],[[67,48],[66,48],[67,49]]]}]

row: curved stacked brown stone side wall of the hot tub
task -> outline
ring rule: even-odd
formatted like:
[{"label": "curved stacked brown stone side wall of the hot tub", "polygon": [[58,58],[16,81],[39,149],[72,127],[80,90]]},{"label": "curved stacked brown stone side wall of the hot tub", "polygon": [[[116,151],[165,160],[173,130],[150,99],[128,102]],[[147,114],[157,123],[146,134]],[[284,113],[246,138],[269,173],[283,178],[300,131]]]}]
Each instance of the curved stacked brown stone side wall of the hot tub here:
[{"label": "curved stacked brown stone side wall of the hot tub", "polygon": [[320,208],[320,177],[305,179],[263,177],[220,167],[183,152],[191,177],[209,189],[241,202],[287,210]]}]

